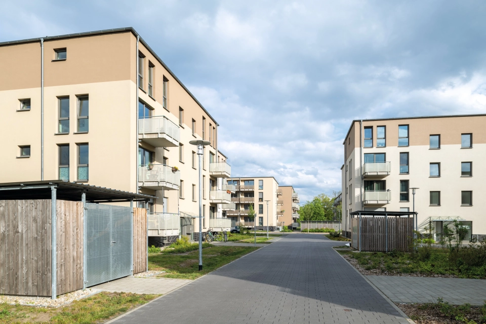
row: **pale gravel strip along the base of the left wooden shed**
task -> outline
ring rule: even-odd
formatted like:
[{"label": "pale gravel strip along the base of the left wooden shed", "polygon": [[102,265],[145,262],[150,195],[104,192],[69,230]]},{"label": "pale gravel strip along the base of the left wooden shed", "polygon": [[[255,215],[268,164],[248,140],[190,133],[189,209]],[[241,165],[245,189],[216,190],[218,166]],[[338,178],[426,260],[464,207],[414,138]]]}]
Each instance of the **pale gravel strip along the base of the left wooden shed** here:
[{"label": "pale gravel strip along the base of the left wooden shed", "polygon": [[78,299],[88,297],[101,292],[99,289],[77,290],[72,293],[67,293],[52,300],[50,297],[24,297],[24,296],[3,296],[0,295],[0,303],[19,304],[24,306],[37,307],[59,307]]}]

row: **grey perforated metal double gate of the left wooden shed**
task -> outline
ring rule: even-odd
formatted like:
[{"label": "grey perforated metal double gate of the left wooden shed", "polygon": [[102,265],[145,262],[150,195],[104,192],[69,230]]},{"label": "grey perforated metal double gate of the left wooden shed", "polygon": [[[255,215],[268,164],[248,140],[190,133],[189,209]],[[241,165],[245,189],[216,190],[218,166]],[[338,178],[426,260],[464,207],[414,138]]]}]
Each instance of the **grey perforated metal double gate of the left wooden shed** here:
[{"label": "grey perforated metal double gate of the left wooden shed", "polygon": [[86,204],[87,287],[131,274],[130,207]]}]

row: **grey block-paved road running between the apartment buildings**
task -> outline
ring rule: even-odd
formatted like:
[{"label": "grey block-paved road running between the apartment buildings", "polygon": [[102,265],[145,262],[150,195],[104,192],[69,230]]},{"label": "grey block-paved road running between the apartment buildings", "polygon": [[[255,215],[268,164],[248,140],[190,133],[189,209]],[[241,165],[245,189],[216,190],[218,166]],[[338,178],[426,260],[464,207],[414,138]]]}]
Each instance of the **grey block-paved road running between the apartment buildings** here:
[{"label": "grey block-paved road running between the apartment buildings", "polygon": [[292,234],[116,323],[408,323],[323,235]]}]

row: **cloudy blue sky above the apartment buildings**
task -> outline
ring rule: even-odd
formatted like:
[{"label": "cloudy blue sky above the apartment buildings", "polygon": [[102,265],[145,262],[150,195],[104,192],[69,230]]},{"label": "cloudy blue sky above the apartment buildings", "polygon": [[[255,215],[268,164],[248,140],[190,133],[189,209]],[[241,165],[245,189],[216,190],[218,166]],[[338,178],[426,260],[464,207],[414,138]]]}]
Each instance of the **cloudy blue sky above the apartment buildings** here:
[{"label": "cloudy blue sky above the apartment buildings", "polygon": [[133,27],[218,121],[232,176],[341,190],[353,119],[486,113],[484,1],[4,1],[0,42]]}]

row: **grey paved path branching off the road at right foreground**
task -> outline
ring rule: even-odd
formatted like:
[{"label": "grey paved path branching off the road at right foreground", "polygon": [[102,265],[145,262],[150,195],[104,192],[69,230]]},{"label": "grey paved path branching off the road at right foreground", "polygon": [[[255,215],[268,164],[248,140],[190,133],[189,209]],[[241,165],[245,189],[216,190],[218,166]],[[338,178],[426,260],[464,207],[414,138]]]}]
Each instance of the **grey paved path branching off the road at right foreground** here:
[{"label": "grey paved path branching off the road at right foreground", "polygon": [[373,285],[397,303],[436,302],[437,298],[453,305],[483,305],[486,280],[460,278],[424,278],[367,275]]}]

